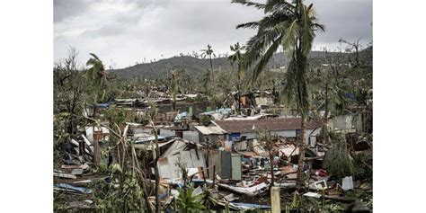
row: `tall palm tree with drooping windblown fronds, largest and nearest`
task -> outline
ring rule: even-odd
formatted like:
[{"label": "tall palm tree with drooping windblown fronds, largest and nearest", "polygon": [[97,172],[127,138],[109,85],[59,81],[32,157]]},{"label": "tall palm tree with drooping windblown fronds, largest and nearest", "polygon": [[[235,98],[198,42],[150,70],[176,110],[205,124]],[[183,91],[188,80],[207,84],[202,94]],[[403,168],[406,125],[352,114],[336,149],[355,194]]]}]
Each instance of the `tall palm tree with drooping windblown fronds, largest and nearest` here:
[{"label": "tall palm tree with drooping windblown fronds, largest and nearest", "polygon": [[324,25],[316,19],[313,4],[303,4],[302,0],[288,3],[283,0],[267,0],[265,4],[244,0],[233,3],[252,5],[264,11],[265,16],[258,22],[237,25],[238,28],[257,29],[257,34],[247,41],[245,67],[253,71],[252,82],[262,73],[273,54],[282,46],[290,58],[287,70],[285,96],[288,101],[296,99],[297,110],[301,114],[299,136],[299,159],[297,189],[304,185],[303,165],[305,158],[306,117],[309,111],[307,91],[307,58],[315,38],[315,31],[324,31]]}]

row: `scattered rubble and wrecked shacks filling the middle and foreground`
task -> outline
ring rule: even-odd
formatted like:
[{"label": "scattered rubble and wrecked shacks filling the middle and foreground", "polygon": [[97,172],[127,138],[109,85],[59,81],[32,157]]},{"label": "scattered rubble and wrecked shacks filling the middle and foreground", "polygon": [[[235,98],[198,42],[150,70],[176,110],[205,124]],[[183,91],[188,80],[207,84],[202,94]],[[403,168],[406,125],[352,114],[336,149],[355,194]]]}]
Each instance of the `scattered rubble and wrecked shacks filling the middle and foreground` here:
[{"label": "scattered rubble and wrecked shacks filling the middle and foreground", "polygon": [[[253,93],[241,96],[242,100],[245,99],[243,109],[256,109],[247,100],[252,100],[251,103],[259,102],[258,106],[261,107],[259,109],[273,104],[271,97],[253,98],[251,95]],[[115,99],[114,102],[98,107],[102,109],[138,107],[138,111],[149,111],[150,106],[147,102],[162,104],[170,101],[166,94],[160,96],[153,100]],[[186,94],[178,101],[184,102],[186,98],[194,97],[197,97],[197,94]],[[203,125],[197,119],[200,116],[209,116],[211,121],[208,125]],[[271,209],[271,203],[262,197],[269,196],[267,194],[271,186],[280,188],[281,196],[283,194],[291,196],[297,188],[299,166],[303,166],[306,181],[305,192],[302,195],[309,199],[324,198],[347,203],[354,201],[345,198],[344,194],[347,191],[371,189],[367,182],[357,180],[353,176],[344,177],[342,181],[337,180],[333,173],[328,173],[324,169],[324,155],[330,150],[331,144],[322,143],[317,139],[324,127],[324,123],[320,120],[307,122],[305,164],[298,165],[300,153],[297,137],[300,134],[300,118],[259,111],[251,111],[245,115],[235,114],[231,108],[199,114],[194,114],[191,108],[190,111],[167,114],[167,118],[168,120],[160,119],[146,124],[126,122],[120,127],[120,132],[111,130],[111,124],[106,122],[107,120],[91,122],[84,127],[83,134],[69,140],[70,148],[64,155],[63,164],[53,173],[55,193],[85,196],[81,200],[70,200],[68,202],[70,209],[93,209],[94,198],[86,197],[92,196],[93,190],[97,190],[93,189],[93,182],[112,184],[114,177],[111,171],[114,169],[111,168],[111,164],[120,164],[119,171],[125,166],[120,162],[120,154],[117,154],[120,149],[105,149],[110,143],[131,146],[138,157],[143,153],[145,160],[139,164],[146,166],[143,175],[147,180],[146,190],[149,193],[147,202],[153,209],[155,209],[155,194],[152,192],[155,185],[155,155],[159,155],[156,164],[160,184],[158,196],[165,209],[175,205],[188,184],[194,186],[191,192],[194,198],[209,194],[211,209]],[[271,144],[271,150],[257,137],[260,129],[268,129],[276,136],[267,142]],[[112,140],[114,137],[119,139]],[[367,142],[363,143],[357,144],[354,152],[368,151],[371,146]],[[98,147],[95,147],[96,144]],[[156,146],[158,154],[155,152]],[[99,158],[99,162],[96,163],[98,165],[94,162],[96,158]],[[104,172],[98,173],[99,168],[103,168]]]}]

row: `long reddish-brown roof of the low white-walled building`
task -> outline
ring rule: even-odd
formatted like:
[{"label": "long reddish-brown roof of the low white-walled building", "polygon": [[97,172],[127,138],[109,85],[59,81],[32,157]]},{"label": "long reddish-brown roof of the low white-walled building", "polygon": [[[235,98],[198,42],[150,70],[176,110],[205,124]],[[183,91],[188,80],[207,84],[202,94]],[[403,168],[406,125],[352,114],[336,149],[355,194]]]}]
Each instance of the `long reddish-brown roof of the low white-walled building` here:
[{"label": "long reddish-brown roof of the low white-walled building", "polygon": [[[268,129],[271,131],[301,129],[302,119],[263,119],[263,120],[215,120],[218,127],[227,133],[232,132],[254,132],[256,130]],[[308,120],[306,129],[321,128],[323,123],[319,120]]]}]

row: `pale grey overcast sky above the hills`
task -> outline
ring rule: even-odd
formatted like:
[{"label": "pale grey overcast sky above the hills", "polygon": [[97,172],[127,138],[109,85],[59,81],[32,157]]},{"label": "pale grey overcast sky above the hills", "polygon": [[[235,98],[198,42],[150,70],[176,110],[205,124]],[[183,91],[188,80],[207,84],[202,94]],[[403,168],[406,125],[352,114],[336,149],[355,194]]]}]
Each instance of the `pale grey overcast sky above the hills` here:
[{"label": "pale grey overcast sky above the hills", "polygon": [[[262,12],[230,4],[231,0],[54,0],[54,59],[65,58],[68,47],[83,63],[93,52],[107,67],[129,67],[144,58],[170,58],[205,49],[217,53],[245,43],[254,30],[236,30],[257,21]],[[306,0],[314,3],[326,31],[314,49],[335,49],[338,40],[372,41],[372,0]],[[163,57],[162,57],[163,55]]]}]

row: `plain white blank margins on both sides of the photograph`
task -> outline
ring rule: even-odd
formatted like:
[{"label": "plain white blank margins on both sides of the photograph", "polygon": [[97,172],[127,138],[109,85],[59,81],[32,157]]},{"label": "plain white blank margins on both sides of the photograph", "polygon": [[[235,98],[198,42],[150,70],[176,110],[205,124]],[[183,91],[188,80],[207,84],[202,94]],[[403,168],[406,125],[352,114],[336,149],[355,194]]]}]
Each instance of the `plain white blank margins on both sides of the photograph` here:
[{"label": "plain white blank margins on both sides of the photograph", "polygon": [[[0,4],[0,211],[49,212],[53,1]],[[426,190],[426,10],[423,1],[373,4],[374,210],[417,212]]]}]

